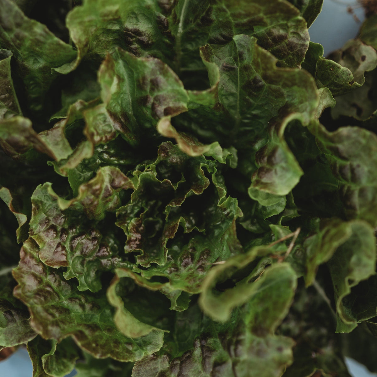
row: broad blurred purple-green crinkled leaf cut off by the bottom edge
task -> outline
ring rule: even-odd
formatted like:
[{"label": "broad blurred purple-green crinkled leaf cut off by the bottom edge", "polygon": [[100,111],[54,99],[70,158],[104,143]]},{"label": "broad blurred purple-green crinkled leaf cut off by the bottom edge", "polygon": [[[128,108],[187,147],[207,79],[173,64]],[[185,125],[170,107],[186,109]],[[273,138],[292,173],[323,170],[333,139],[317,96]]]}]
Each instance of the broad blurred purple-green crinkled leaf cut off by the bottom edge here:
[{"label": "broad blurred purple-green crinkled leaf cut off by the bottom edge", "polygon": [[[187,375],[196,373],[201,376],[232,377],[280,375],[285,366],[291,363],[293,346],[287,337],[273,335],[293,298],[296,280],[294,273],[290,277],[288,275],[289,283],[283,284],[281,291],[272,289],[272,276],[265,277],[259,291],[256,290],[249,300],[244,297],[244,301],[248,301],[244,310],[235,311],[224,325],[215,324],[205,318],[202,321],[196,319],[195,323],[204,327],[205,336],[196,337],[192,349],[175,358],[163,350],[145,357],[135,363],[133,375],[173,376],[179,372]],[[270,277],[272,281],[269,280]],[[265,300],[262,292],[269,288],[272,296],[270,300]],[[281,296],[283,291],[285,294]],[[280,307],[280,311],[275,311],[276,306]],[[260,358],[265,364],[260,363]]]}]

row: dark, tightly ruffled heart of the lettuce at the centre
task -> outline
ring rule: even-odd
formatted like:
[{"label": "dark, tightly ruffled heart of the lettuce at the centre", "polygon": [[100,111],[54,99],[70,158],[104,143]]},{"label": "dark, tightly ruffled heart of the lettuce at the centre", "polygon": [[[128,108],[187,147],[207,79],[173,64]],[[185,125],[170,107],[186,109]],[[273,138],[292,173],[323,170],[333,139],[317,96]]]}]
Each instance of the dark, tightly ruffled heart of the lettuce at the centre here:
[{"label": "dark, tightly ruffled heart of the lettuce at the centre", "polygon": [[[170,179],[160,181],[162,172]],[[138,263],[150,267],[135,271],[168,278],[163,293],[198,293],[210,264],[240,250],[237,201],[226,195],[213,161],[187,156],[171,143],[161,144],[156,162],[136,172],[134,184],[130,203],[117,211],[117,225],[127,235],[126,252],[141,251]],[[149,236],[147,228],[153,229]]]}]

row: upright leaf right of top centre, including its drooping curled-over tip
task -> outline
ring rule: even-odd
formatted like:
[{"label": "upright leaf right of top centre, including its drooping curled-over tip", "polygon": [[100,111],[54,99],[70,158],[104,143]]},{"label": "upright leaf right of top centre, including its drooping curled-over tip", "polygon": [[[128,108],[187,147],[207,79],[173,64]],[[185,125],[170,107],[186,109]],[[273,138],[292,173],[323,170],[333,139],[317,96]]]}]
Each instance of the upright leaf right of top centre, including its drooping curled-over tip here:
[{"label": "upright leaf right of top centre, including its drooping curled-over tip", "polygon": [[[284,141],[284,129],[293,119],[308,124],[314,116],[318,98],[310,75],[277,67],[276,59],[257,46],[255,38],[246,35],[235,36],[225,46],[206,45],[201,54],[205,63],[216,63],[220,69],[219,107],[226,110],[225,116],[230,116],[233,123],[229,130],[229,126],[221,129],[214,125],[216,139],[222,140],[226,132],[225,145],[234,143],[237,149],[254,145],[255,152],[265,144],[256,155],[259,169],[254,172],[251,188],[280,197],[286,195],[302,171]],[[219,115],[212,111],[216,120]],[[271,124],[267,131],[266,124],[274,117],[275,125]],[[219,119],[219,124],[222,122]],[[282,185],[282,175],[286,173],[290,175],[284,176]],[[257,197],[255,192],[251,195]]]}]

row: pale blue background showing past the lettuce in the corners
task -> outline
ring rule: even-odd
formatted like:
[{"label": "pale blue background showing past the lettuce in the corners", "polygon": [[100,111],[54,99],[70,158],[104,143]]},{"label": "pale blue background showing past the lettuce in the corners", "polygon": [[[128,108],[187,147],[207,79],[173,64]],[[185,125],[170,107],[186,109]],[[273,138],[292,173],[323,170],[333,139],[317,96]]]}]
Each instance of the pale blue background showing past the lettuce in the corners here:
[{"label": "pale blue background showing past the lettuce in the corners", "polygon": [[[322,12],[309,29],[310,39],[323,45],[325,56],[340,48],[351,38],[356,37],[360,23],[347,12],[348,5],[353,6],[354,14],[362,20],[363,9],[357,8],[356,1],[324,0]],[[352,359],[346,360],[348,368],[354,377],[377,377],[365,366]],[[0,375],[9,377],[31,377],[32,366],[25,348],[20,349],[11,357],[0,363]],[[69,376],[74,376],[72,372]]]}]

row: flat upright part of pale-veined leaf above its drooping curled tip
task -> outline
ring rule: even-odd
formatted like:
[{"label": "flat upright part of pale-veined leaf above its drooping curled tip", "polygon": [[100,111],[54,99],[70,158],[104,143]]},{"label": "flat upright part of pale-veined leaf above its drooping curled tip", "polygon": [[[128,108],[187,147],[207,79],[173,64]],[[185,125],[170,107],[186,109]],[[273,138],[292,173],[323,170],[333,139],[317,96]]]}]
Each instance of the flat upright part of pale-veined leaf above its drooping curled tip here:
[{"label": "flat upright part of pale-veined leaf above its drooping curled tip", "polygon": [[220,69],[219,101],[234,119],[230,134],[238,133],[241,143],[260,136],[265,122],[282,110],[284,116],[302,113],[307,123],[317,104],[311,77],[304,71],[277,67],[276,59],[256,42],[256,38],[236,35],[224,46],[201,48],[203,61]]}]

